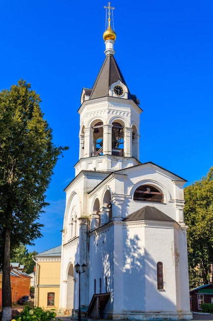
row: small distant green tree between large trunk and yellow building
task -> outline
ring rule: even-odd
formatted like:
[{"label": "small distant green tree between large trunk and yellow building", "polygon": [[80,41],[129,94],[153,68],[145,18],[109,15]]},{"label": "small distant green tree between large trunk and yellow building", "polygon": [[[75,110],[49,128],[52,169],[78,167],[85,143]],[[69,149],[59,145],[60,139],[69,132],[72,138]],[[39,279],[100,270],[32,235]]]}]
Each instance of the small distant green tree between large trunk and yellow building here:
[{"label": "small distant green tree between large trunk and yellow building", "polygon": [[35,262],[32,259],[33,255],[38,254],[38,252],[28,252],[26,245],[20,244],[18,248],[14,249],[12,252],[12,257],[10,262],[18,262],[25,266],[25,272],[33,272]]}]

